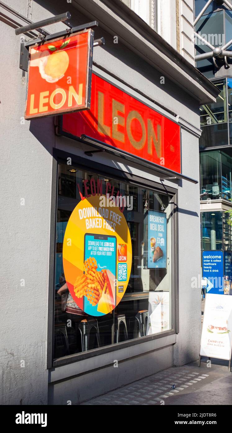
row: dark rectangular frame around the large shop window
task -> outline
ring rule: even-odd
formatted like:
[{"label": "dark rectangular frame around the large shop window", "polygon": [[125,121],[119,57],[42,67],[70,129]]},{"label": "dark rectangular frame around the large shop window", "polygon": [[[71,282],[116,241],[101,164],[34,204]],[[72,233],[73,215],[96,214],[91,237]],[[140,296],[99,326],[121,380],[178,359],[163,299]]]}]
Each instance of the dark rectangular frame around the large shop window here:
[{"label": "dark rectangular frame around the large shop window", "polygon": [[[53,342],[54,342],[54,278],[55,278],[55,243],[56,243],[56,217],[57,217],[57,178],[59,160],[72,159],[72,165],[79,169],[92,170],[96,174],[108,174],[112,178],[127,181],[140,187],[147,187],[162,194],[168,194],[172,197],[171,201],[171,224],[172,224],[172,327],[171,330],[139,337],[137,339],[127,340],[114,345],[104,346],[88,352],[80,352],[73,355],[54,360],[53,359]],[[48,346],[47,346],[47,368],[54,368],[60,365],[67,365],[83,359],[92,358],[92,356],[102,355],[103,353],[114,352],[115,350],[142,344],[146,341],[162,338],[179,332],[179,310],[178,310],[178,190],[173,187],[167,187],[158,182],[141,178],[116,168],[108,167],[104,164],[94,163],[78,155],[70,154],[59,149],[53,149],[52,162],[52,179],[51,179],[51,221],[50,221],[50,248],[49,248],[49,278],[48,278]]]}]

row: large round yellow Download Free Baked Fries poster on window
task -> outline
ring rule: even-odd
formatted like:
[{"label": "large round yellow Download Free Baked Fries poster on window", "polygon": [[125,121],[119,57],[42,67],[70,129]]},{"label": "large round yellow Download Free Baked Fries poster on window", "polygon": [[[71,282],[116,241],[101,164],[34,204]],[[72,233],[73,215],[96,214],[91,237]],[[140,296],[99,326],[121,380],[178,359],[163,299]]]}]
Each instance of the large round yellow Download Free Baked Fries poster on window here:
[{"label": "large round yellow Download Free Baked Fries poster on window", "polygon": [[132,247],[127,221],[115,200],[81,200],[67,223],[63,265],[73,300],[87,314],[102,316],[121,301],[130,278]]}]

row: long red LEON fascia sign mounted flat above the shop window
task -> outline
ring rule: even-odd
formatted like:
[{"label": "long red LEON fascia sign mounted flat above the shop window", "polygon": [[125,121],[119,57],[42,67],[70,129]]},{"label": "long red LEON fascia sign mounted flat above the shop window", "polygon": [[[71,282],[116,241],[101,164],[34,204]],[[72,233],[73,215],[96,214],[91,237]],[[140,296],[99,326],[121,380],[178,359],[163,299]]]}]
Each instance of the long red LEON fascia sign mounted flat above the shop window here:
[{"label": "long red LEON fascia sign mounted flat above the shop window", "polygon": [[181,173],[180,126],[92,74],[89,111],[63,116],[60,134],[83,134]]}]

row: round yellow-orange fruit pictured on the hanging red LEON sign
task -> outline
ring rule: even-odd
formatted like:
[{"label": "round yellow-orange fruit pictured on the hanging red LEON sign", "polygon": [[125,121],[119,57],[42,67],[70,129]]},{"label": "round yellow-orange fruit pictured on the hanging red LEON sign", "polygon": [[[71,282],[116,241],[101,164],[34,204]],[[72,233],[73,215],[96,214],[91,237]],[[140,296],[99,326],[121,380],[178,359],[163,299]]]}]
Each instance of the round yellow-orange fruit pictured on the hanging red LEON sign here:
[{"label": "round yellow-orange fruit pictured on the hanging red LEON sign", "polygon": [[59,78],[67,71],[68,65],[69,56],[66,51],[52,53],[48,56],[44,72],[51,78]]}]

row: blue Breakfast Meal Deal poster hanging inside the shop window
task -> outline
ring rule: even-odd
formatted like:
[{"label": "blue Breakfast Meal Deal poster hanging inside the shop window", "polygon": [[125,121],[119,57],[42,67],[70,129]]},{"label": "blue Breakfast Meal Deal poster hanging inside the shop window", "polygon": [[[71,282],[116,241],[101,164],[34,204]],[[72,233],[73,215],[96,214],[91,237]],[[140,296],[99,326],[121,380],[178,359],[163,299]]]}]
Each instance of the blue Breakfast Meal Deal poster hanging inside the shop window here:
[{"label": "blue Breakfast Meal Deal poster hanging inside the shop window", "polygon": [[167,267],[167,218],[164,212],[148,210],[147,268]]}]

